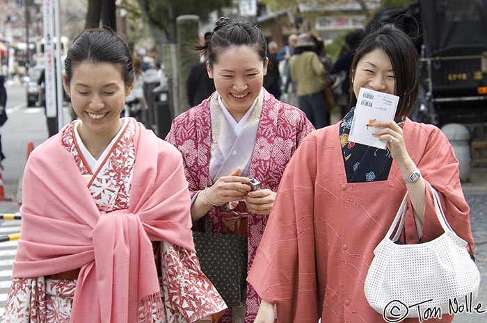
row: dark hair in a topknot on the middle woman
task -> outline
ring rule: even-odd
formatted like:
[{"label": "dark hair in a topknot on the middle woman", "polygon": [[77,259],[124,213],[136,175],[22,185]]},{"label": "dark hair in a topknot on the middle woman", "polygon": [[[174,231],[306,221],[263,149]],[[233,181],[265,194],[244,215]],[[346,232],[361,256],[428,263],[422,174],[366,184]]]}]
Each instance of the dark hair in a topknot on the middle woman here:
[{"label": "dark hair in a topknot on the middle woman", "polygon": [[205,33],[205,44],[196,44],[195,49],[207,58],[210,68],[218,62],[222,51],[232,46],[249,46],[265,64],[267,56],[267,42],[257,26],[250,22],[234,22],[229,24],[229,18],[221,17],[216,22],[213,31]]}]

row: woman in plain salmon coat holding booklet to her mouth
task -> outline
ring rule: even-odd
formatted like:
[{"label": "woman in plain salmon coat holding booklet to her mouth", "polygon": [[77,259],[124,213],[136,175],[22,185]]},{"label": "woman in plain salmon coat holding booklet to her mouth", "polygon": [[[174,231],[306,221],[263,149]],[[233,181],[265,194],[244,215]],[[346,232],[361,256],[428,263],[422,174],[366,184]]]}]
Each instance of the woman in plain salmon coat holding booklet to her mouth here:
[{"label": "woman in plain salmon coat holding booklet to her mouth", "polygon": [[[364,282],[406,192],[402,242],[444,232],[426,190],[431,184],[449,224],[473,248],[452,146],[436,126],[406,118],[417,82],[417,52],[405,33],[384,25],[365,36],[351,65],[352,106],[360,88],[399,95],[394,120],[372,125],[387,149],[348,140],[354,108],[301,144],[282,176],[248,275],[263,299],[255,323],[273,322],[274,306],[279,323],[384,322],[367,303]],[[452,322],[452,316],[428,322]]]}]

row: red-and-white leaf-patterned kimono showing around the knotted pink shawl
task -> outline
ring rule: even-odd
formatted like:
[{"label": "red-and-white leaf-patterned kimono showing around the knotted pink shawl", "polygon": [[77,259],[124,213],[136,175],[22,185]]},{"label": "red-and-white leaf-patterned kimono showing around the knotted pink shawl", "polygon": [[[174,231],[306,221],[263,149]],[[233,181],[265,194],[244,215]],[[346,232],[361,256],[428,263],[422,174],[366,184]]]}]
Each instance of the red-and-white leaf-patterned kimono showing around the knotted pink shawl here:
[{"label": "red-and-white leaf-patterned kimono showing around the knotted pink shawl", "polygon": [[[136,158],[133,122],[130,119],[106,163],[99,172],[95,171],[96,178],[90,185],[90,192],[100,210],[109,212],[128,206]],[[90,175],[74,144],[73,125],[70,124],[63,133],[63,146],[76,160],[81,174]],[[150,302],[153,305],[150,305],[153,307],[152,317],[147,320],[141,315],[138,323],[194,322],[225,310],[225,303],[201,272],[196,254],[169,242],[161,242],[161,245],[163,278],[160,279],[164,308],[157,308],[159,302]],[[44,276],[13,279],[2,323],[69,323],[76,282],[45,279]],[[142,312],[139,308],[139,313]]]}]

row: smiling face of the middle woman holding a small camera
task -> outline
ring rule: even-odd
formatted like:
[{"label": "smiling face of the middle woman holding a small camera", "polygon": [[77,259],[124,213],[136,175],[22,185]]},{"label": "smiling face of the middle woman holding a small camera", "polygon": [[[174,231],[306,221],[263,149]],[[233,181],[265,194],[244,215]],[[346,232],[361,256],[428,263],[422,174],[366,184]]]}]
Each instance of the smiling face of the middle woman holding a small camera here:
[{"label": "smiling face of the middle woman holding a small camera", "polygon": [[207,62],[207,71],[225,107],[239,121],[262,90],[267,58],[264,65],[252,47],[230,47],[218,55],[212,68]]}]

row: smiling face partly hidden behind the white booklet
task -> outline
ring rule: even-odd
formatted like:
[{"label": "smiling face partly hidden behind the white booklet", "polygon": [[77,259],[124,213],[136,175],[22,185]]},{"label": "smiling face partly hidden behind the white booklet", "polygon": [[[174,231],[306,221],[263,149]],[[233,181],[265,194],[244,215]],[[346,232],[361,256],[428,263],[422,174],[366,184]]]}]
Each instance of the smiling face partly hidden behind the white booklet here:
[{"label": "smiling face partly hidden behind the white booklet", "polygon": [[362,56],[353,71],[352,82],[356,97],[360,88],[395,94],[394,69],[387,53],[382,49],[374,49]]}]

